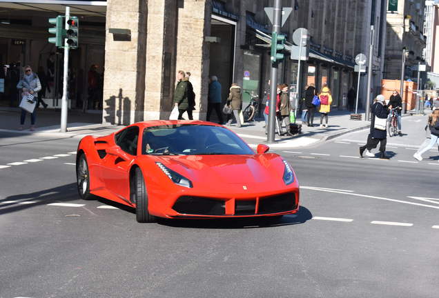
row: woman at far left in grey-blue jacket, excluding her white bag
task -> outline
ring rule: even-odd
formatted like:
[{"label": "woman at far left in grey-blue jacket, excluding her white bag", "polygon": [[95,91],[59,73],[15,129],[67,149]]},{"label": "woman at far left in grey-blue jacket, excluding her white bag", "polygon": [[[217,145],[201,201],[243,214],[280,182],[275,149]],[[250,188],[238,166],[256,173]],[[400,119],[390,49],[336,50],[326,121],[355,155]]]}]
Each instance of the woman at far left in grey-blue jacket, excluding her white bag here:
[{"label": "woman at far left in grey-blue jacket, excluding her white bag", "polygon": [[[37,74],[32,72],[32,68],[30,66],[26,66],[24,68],[23,79],[17,83],[17,89],[21,89],[23,95],[32,95],[33,99],[27,99],[27,97],[23,97],[21,100],[29,100],[32,102],[38,101],[38,92],[41,90],[41,83],[38,79]],[[30,130],[35,130],[35,109],[32,113],[30,113]],[[21,109],[21,117],[20,117],[20,127],[19,130],[23,130],[24,121],[26,120],[27,111]]]}]

